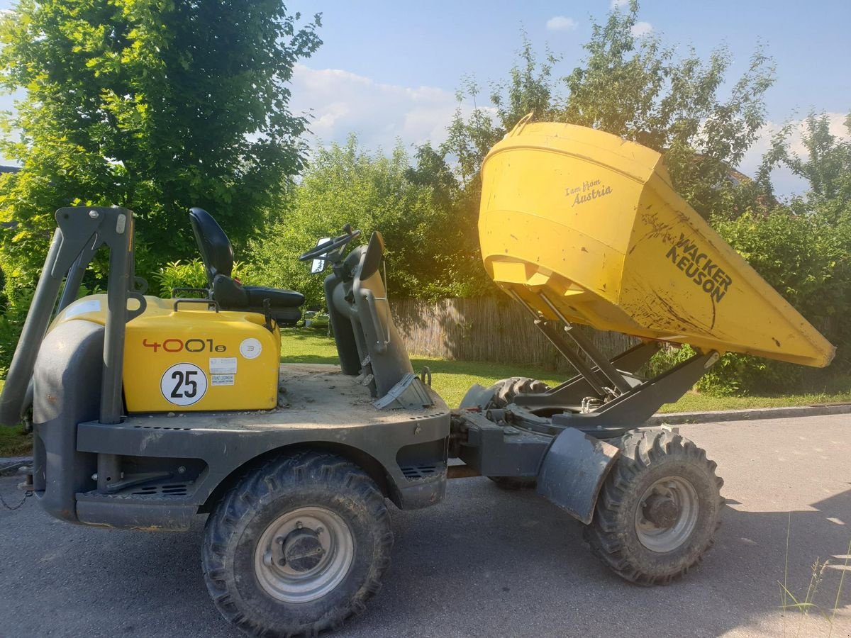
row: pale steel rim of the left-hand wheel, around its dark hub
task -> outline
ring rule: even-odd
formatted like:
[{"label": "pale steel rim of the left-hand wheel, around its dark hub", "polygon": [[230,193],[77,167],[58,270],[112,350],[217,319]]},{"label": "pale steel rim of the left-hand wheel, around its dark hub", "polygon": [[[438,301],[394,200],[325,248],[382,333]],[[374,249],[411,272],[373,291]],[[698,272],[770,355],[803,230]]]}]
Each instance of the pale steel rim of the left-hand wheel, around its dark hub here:
[{"label": "pale steel rim of the left-hand wheel, around its dark hub", "polygon": [[[286,562],[282,539],[302,529],[317,534],[323,553],[315,567],[297,571]],[[355,541],[346,521],[323,507],[300,507],[266,527],[254,550],[254,573],[273,598],[310,602],[327,595],[346,578],[354,555]]]}]

